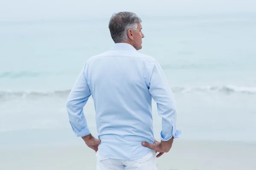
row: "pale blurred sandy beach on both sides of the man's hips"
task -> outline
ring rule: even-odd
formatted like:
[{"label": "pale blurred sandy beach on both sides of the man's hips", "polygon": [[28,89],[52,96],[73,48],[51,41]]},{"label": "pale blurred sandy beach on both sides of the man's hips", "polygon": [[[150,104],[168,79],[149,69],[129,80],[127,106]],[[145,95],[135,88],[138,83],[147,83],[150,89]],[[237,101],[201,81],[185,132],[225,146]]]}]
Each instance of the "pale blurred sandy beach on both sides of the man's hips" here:
[{"label": "pale blurred sandy beach on both sides of the man's hips", "polygon": [[[0,148],[0,170],[95,170],[85,145]],[[158,170],[256,170],[256,143],[175,141],[157,159]]]}]

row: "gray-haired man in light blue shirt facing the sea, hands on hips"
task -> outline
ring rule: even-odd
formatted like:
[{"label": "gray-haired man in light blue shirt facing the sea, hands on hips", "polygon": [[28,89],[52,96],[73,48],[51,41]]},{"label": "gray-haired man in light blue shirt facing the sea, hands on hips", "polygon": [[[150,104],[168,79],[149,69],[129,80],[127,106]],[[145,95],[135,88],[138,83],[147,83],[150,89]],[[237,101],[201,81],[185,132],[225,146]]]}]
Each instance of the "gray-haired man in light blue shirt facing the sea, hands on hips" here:
[{"label": "gray-haired man in light blue shirt facing the sea, hands on hips", "polygon": [[[97,170],[156,170],[156,157],[169,152],[180,135],[163,70],[157,60],[138,52],[144,37],[140,23],[134,13],[113,14],[113,49],[85,63],[67,100],[70,124],[76,136],[96,151]],[[83,113],[90,95],[99,140],[90,134]],[[152,98],[163,118],[161,142],[154,140]]]}]

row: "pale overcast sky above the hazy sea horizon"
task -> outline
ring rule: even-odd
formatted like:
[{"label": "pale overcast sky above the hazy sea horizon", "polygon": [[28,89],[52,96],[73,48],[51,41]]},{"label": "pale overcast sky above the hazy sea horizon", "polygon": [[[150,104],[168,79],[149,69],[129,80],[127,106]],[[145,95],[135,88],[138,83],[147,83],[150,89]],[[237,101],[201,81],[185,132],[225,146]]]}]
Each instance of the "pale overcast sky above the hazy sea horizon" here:
[{"label": "pale overcast sky above the hazy sea horizon", "polygon": [[0,0],[0,21],[256,12],[256,0]]}]

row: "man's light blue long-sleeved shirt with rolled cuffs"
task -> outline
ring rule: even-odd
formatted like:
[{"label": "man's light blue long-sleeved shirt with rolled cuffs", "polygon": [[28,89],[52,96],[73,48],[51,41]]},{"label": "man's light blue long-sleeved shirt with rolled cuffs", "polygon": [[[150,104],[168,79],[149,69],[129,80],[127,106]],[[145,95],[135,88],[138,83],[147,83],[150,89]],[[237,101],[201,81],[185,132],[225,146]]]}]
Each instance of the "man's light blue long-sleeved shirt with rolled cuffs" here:
[{"label": "man's light blue long-sleeved shirt with rolled cuffs", "polygon": [[76,136],[90,134],[83,108],[92,95],[99,154],[133,160],[151,151],[154,143],[152,98],[162,117],[161,140],[178,138],[175,99],[159,63],[127,43],[87,60],[67,99],[67,112]]}]

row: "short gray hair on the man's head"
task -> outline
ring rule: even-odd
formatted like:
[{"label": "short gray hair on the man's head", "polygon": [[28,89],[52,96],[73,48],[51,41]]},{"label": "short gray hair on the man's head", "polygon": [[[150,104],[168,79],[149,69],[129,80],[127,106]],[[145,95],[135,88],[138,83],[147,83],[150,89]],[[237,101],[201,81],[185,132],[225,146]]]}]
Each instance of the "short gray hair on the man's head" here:
[{"label": "short gray hair on the man's head", "polygon": [[141,22],[141,19],[133,12],[119,12],[113,14],[108,24],[113,41],[115,43],[128,41],[128,29],[136,31],[138,23]]}]

